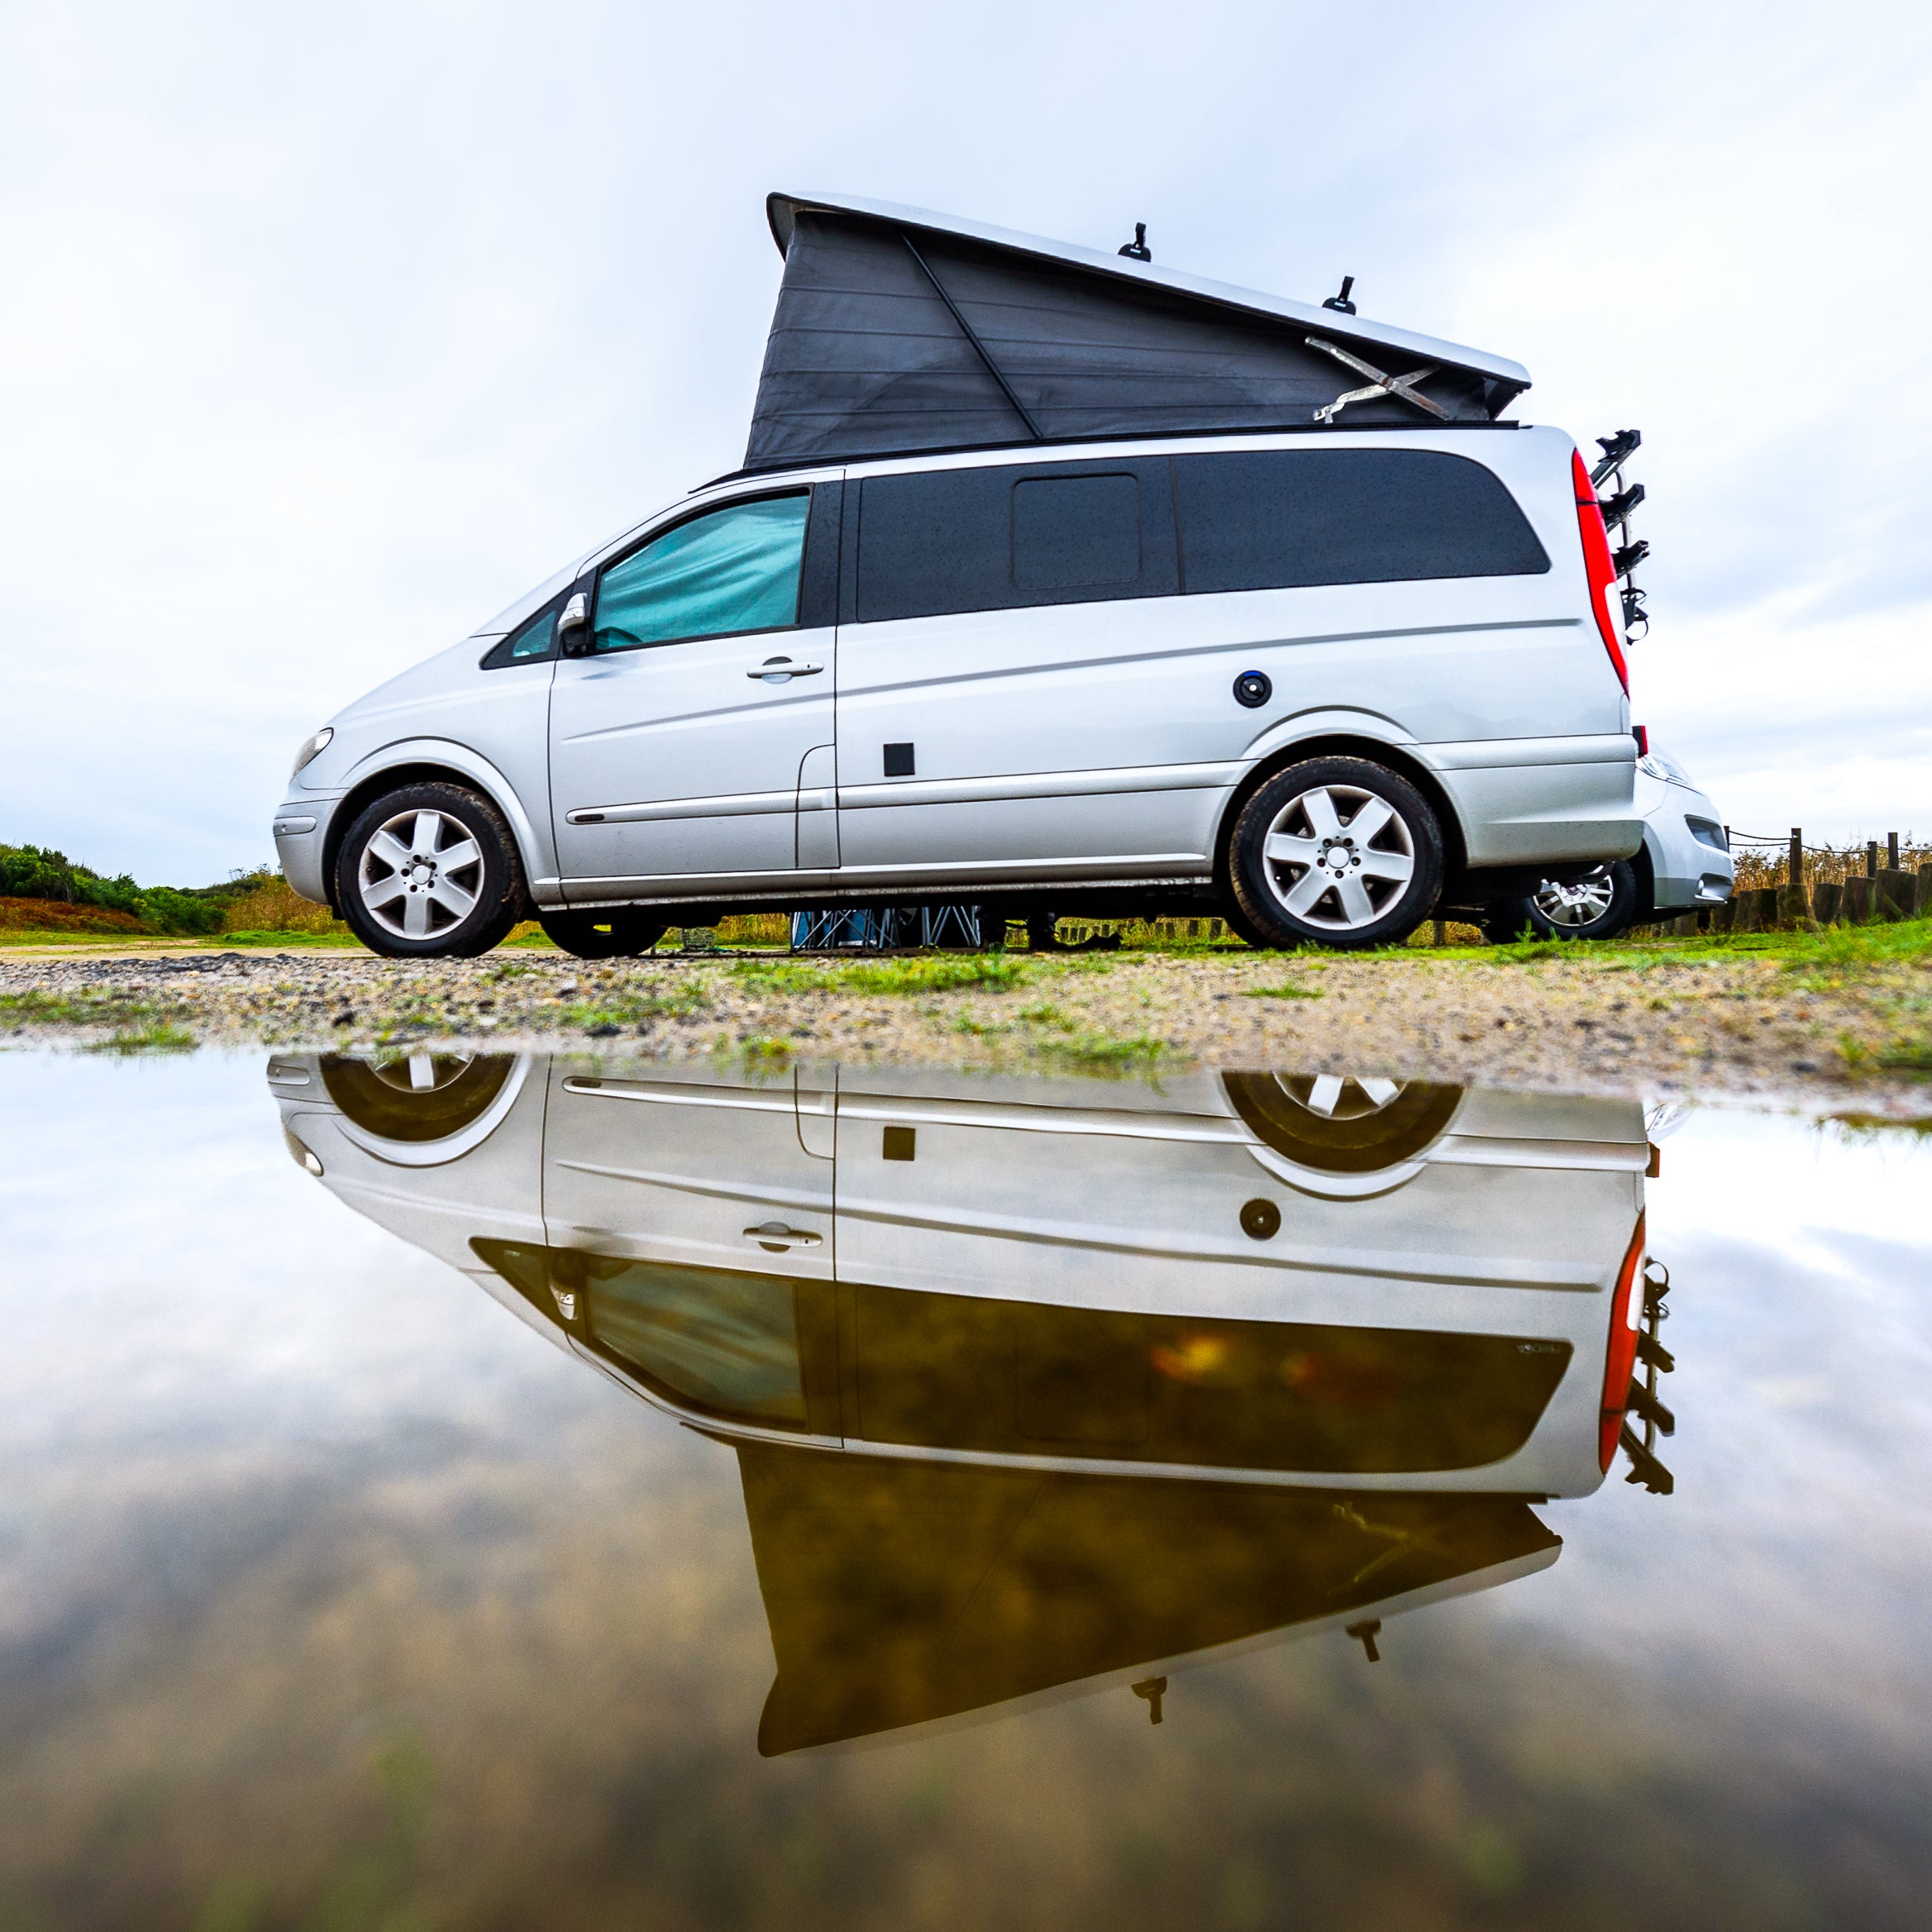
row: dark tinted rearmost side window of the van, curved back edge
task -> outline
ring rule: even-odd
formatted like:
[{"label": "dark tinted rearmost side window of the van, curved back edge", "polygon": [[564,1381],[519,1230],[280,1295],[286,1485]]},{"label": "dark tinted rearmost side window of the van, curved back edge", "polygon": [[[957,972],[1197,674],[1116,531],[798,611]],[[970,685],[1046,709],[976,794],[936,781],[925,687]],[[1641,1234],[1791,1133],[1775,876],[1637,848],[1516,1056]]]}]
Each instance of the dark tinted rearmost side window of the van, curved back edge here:
[{"label": "dark tinted rearmost side window of the van, curved back edge", "polygon": [[1175,460],[1190,595],[1538,576],[1501,479],[1439,450],[1229,450]]}]

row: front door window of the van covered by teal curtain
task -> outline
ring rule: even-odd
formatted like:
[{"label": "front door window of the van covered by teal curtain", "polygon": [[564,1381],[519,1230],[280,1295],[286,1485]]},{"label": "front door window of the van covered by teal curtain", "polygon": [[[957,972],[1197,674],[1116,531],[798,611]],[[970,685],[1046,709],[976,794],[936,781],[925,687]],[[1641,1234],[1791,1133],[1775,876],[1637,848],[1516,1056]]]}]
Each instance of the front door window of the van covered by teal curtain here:
[{"label": "front door window of the van covered by teal curtain", "polygon": [[597,580],[599,651],[798,622],[811,497],[763,497],[694,516]]}]

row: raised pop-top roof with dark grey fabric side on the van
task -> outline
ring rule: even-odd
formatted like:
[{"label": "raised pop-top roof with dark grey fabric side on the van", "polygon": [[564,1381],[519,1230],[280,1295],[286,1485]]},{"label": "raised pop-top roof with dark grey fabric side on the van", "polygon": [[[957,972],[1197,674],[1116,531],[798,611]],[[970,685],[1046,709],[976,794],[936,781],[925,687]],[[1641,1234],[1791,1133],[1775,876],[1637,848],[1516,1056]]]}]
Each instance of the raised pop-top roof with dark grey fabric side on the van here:
[{"label": "raised pop-top roof with dark grey fabric side on the van", "polygon": [[1318,412],[1488,423],[1530,386],[1503,355],[1124,255],[850,195],[765,207],[784,280],[748,469]]}]

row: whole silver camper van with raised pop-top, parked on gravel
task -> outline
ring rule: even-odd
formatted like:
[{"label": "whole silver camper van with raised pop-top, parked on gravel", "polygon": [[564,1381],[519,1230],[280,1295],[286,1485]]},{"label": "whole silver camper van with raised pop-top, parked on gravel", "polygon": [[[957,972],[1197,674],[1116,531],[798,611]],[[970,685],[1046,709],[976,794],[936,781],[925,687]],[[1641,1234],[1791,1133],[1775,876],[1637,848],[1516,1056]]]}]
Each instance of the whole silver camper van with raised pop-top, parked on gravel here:
[{"label": "whole silver camper van with raised pop-top, parked on gravel", "polygon": [[282,866],[369,947],[840,900],[1368,947],[1640,846],[1631,553],[1503,417],[1520,365],[881,203],[771,224],[746,466],[301,748]]}]

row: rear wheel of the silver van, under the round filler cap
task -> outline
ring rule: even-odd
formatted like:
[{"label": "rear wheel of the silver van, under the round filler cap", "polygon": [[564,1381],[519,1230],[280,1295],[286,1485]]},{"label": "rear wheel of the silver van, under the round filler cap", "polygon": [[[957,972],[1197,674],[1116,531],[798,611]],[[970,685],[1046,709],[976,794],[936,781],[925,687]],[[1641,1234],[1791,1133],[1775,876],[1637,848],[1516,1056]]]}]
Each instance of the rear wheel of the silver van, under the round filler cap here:
[{"label": "rear wheel of the silver van, under the round filler cap", "polygon": [[1271,945],[1379,947],[1406,933],[1443,877],[1435,813],[1366,757],[1277,771],[1240,810],[1229,885]]}]

